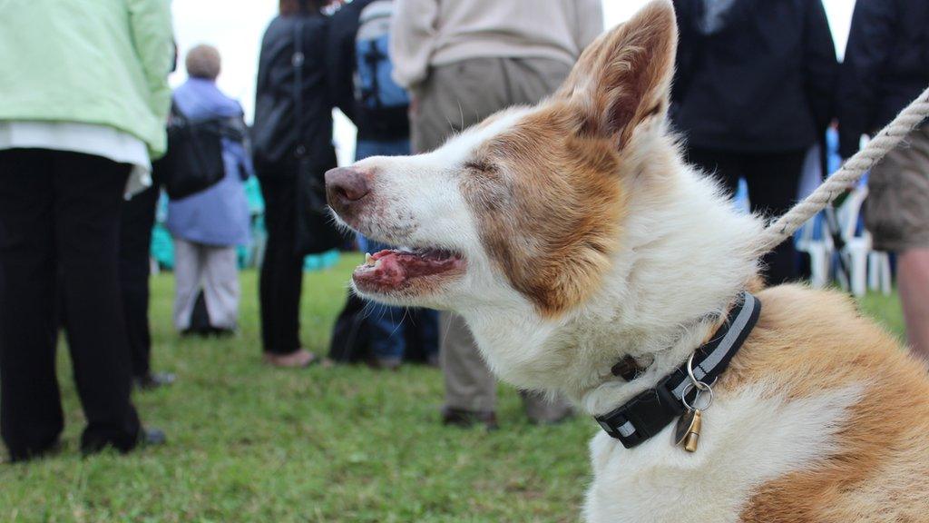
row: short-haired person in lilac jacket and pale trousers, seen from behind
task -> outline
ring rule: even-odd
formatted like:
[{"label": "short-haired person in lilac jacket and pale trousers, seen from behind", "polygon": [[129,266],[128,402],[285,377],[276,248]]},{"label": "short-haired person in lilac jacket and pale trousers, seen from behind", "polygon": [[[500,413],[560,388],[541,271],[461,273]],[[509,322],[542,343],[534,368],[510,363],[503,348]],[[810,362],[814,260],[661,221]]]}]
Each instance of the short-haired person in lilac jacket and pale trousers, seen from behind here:
[{"label": "short-haired person in lilac jacket and pale trousers, seen from behind", "polygon": [[[226,118],[242,121],[242,107],[216,87],[220,57],[216,47],[198,46],[186,60],[190,79],[177,87],[174,101],[191,121]],[[175,241],[174,322],[181,332],[228,333],[239,317],[236,246],[249,241],[249,209],[243,181],[252,164],[241,141],[223,139],[226,176],[216,185],[168,204],[167,228]],[[208,326],[191,325],[203,292]]]}]

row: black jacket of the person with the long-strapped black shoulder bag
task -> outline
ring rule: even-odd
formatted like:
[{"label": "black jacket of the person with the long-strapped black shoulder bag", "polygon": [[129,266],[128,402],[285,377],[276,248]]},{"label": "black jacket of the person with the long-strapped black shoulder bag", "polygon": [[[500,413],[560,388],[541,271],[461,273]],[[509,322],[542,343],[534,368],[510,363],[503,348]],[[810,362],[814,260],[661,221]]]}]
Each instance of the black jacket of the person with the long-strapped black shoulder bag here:
[{"label": "black jacket of the person with the long-strapped black shoulder bag", "polygon": [[[296,128],[294,41],[303,20],[303,128]],[[294,176],[296,148],[304,144],[311,164],[334,164],[333,102],[326,83],[328,20],[322,15],[271,20],[261,42],[252,128],[255,171],[260,177]]]}]

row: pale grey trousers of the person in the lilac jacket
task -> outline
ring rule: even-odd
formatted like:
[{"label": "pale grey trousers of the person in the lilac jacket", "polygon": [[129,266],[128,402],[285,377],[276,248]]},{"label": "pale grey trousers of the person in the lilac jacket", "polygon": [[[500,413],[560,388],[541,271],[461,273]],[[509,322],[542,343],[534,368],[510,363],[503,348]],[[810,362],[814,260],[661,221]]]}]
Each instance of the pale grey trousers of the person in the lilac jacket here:
[{"label": "pale grey trousers of the person in the lilac jacket", "polygon": [[190,314],[203,288],[210,326],[235,329],[241,295],[235,247],[215,247],[180,238],[175,238],[174,245],[175,328],[190,329]]}]

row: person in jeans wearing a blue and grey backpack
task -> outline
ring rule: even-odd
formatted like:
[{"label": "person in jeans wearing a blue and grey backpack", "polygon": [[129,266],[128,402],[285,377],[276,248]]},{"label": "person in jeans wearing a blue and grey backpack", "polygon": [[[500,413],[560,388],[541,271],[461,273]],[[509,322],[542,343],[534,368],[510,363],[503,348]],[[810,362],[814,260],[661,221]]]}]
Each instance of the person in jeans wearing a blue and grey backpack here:
[{"label": "person in jeans wearing a blue and grey backpack", "polygon": [[[339,9],[331,23],[326,55],[329,92],[358,127],[356,161],[410,154],[410,98],[391,77],[388,47],[393,10],[392,0],[354,0]],[[361,235],[358,243],[366,252],[391,247]],[[436,311],[359,302],[349,293],[334,330],[334,359],[366,357],[375,369],[397,369],[404,356],[415,356],[409,354],[413,347],[407,342],[417,341],[419,356],[438,364]]]}]

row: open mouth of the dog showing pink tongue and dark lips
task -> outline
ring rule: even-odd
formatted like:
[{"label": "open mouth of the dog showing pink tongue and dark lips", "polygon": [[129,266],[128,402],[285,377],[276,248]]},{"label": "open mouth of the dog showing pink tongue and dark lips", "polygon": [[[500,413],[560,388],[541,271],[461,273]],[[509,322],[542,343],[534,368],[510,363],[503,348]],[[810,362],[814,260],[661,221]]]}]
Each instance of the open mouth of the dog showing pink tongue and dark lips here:
[{"label": "open mouth of the dog showing pink tongue and dark lips", "polygon": [[462,255],[440,248],[399,248],[368,254],[352,274],[361,291],[388,293],[409,288],[416,282],[460,273]]}]

